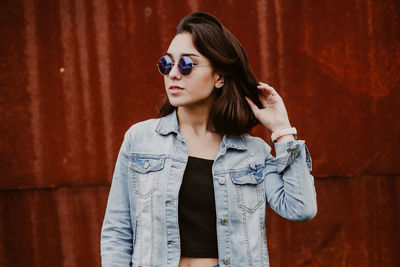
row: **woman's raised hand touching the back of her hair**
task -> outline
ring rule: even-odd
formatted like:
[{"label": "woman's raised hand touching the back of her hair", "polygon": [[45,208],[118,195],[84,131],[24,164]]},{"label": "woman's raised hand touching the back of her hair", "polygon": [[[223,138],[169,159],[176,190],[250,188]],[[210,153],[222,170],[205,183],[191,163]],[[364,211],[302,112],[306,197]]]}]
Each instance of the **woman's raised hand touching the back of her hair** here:
[{"label": "woman's raised hand touching the back of her hair", "polygon": [[262,108],[258,108],[250,98],[246,97],[254,116],[271,132],[290,128],[289,117],[282,97],[268,84],[262,82],[258,84],[257,88],[261,91]]}]

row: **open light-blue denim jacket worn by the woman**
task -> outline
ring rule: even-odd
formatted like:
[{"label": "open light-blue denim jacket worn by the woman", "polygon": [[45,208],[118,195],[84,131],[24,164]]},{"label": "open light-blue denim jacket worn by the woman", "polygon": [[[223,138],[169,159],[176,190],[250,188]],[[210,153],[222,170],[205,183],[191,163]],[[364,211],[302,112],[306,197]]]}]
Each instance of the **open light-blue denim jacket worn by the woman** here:
[{"label": "open light-blue denim jacket worn by the woman", "polygon": [[[224,136],[212,166],[221,267],[269,266],[266,204],[294,221],[317,212],[304,141]],[[176,112],[133,125],[115,166],[101,232],[103,266],[178,266],[178,193],[188,160]],[[196,190],[193,188],[193,190]]]}]

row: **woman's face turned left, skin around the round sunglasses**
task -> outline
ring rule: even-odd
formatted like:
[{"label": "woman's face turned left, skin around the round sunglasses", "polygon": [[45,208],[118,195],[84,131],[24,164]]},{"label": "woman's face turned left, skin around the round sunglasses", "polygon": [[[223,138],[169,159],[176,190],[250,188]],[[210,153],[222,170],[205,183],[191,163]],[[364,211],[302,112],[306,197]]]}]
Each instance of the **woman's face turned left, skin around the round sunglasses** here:
[{"label": "woman's face turned left, skin around the round sunglasses", "polygon": [[[167,55],[175,63],[170,73],[164,75],[165,90],[171,105],[178,108],[209,107],[219,75],[213,72],[210,61],[194,47],[191,34],[185,32],[176,35],[168,47]],[[190,57],[194,65],[192,72],[186,76],[179,72],[177,66],[182,56]]]}]

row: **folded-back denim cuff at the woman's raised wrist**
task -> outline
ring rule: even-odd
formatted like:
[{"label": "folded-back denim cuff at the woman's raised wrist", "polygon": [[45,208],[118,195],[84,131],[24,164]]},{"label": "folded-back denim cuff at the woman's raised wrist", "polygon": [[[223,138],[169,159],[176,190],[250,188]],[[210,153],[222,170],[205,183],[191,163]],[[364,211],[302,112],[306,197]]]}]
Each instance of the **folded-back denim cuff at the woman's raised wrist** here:
[{"label": "folded-back denim cuff at the woman's raised wrist", "polygon": [[[274,143],[278,173],[282,173],[300,155],[304,155],[308,170],[312,170],[312,160],[304,140]],[[304,151],[304,153],[301,153]]]}]

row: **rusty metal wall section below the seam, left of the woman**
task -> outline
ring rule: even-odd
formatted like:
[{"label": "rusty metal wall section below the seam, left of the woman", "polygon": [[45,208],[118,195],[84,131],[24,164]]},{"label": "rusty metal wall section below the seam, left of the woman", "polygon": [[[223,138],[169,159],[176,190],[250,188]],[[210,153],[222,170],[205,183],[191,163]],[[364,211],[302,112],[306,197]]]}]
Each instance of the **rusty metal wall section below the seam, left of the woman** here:
[{"label": "rusty metal wall section below the seam, left of the woman", "polygon": [[4,190],[0,266],[100,266],[109,188]]}]

